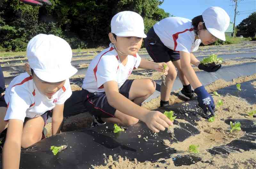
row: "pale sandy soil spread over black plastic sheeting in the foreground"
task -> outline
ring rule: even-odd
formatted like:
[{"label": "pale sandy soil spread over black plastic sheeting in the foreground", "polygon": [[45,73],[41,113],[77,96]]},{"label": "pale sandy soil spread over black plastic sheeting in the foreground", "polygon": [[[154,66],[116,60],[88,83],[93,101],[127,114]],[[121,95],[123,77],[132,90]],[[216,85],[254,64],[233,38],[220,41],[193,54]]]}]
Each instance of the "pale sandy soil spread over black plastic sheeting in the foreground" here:
[{"label": "pale sandy soil spread over black plastic sheeting in the foreground", "polygon": [[[175,148],[177,150],[176,154],[172,154],[172,156],[167,159],[166,164],[162,164],[159,162],[151,163],[144,162],[140,163],[137,160],[129,161],[127,158],[119,157],[118,161],[113,161],[112,157],[108,157],[106,161],[106,166],[95,166],[96,169],[119,169],[119,168],[136,168],[136,169],[144,169],[144,168],[248,168],[252,169],[256,167],[256,151],[243,151],[242,153],[231,153],[229,155],[215,155],[212,156],[207,149],[210,149],[214,146],[220,146],[223,144],[230,143],[231,141],[244,136],[244,131],[235,131],[233,133],[229,132],[229,125],[224,122],[224,119],[228,118],[245,118],[244,115],[246,112],[255,110],[256,105],[250,105],[245,100],[241,98],[237,98],[234,96],[213,96],[215,102],[218,100],[223,100],[223,106],[217,108],[216,111],[216,119],[214,122],[208,122],[207,120],[201,118],[201,121],[198,121],[198,125],[196,126],[200,130],[200,134],[196,136],[191,136],[189,139],[186,139],[183,142],[178,143],[168,143],[167,145],[171,148]],[[189,106],[189,105],[188,105]],[[180,122],[186,122],[184,120],[179,120]],[[175,127],[175,126],[174,126]],[[199,153],[192,154],[196,157],[202,158],[203,162],[198,162],[193,165],[182,165],[180,167],[176,167],[173,164],[172,158],[177,155],[188,155],[188,147],[191,144],[199,145]],[[212,163],[212,164],[209,164]]]}]

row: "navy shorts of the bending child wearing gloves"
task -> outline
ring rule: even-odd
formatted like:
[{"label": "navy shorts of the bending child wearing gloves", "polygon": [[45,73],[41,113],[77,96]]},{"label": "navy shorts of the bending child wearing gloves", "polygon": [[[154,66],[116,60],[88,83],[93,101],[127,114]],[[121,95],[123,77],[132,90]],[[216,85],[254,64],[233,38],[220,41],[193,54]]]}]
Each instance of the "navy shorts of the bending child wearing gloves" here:
[{"label": "navy shorts of the bending child wearing gloves", "polygon": [[144,44],[149,56],[154,62],[173,62],[180,60],[180,53],[167,48],[157,36],[153,27],[148,31],[147,38],[144,39]]}]

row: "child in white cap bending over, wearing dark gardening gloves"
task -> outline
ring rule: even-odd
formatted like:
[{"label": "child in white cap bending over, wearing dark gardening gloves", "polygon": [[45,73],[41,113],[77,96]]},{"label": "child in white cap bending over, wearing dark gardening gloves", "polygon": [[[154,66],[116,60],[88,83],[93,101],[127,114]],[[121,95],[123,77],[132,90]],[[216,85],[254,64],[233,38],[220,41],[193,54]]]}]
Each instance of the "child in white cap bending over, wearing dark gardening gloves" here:
[{"label": "child in white cap bending over, wearing dark gardening gloves", "polygon": [[166,85],[163,83],[161,85],[161,107],[169,104],[172,85],[177,76],[176,67],[183,84],[179,95],[191,99],[194,96],[192,85],[204,113],[207,114],[208,108],[214,115],[215,106],[212,96],[205,90],[190,63],[207,72],[217,71],[221,65],[205,67],[191,52],[196,51],[200,43],[208,45],[217,39],[226,40],[225,31],[229,21],[227,12],[222,8],[210,7],[192,21],[180,17],[165,18],[148,31],[145,39],[148,54],[154,62],[166,62],[169,67]]}]

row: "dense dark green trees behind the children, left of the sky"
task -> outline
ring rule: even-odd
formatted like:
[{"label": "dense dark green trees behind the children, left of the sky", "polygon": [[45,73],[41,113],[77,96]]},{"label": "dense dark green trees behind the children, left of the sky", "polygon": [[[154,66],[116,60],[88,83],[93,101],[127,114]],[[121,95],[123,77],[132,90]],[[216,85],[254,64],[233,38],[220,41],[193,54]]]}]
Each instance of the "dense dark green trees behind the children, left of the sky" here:
[{"label": "dense dark green trees behind the children, left of the sky", "polygon": [[39,33],[58,35],[72,48],[108,45],[111,18],[120,11],[134,11],[144,18],[145,32],[169,13],[159,8],[163,0],[51,0],[52,6],[0,2],[0,47],[26,50]]}]

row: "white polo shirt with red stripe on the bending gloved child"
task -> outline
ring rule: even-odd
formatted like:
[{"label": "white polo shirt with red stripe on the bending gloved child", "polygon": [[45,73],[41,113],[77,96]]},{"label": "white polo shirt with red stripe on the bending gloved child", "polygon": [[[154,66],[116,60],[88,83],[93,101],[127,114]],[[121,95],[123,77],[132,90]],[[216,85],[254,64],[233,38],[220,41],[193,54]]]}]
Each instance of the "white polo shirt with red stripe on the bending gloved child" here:
[{"label": "white polo shirt with red stripe on the bending gloved child", "polygon": [[154,31],[167,48],[186,53],[198,49],[200,39],[195,40],[192,21],[181,17],[169,17],[157,22]]}]

